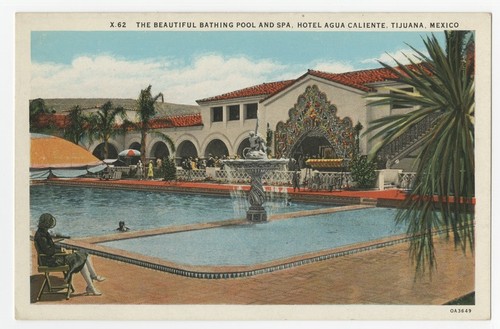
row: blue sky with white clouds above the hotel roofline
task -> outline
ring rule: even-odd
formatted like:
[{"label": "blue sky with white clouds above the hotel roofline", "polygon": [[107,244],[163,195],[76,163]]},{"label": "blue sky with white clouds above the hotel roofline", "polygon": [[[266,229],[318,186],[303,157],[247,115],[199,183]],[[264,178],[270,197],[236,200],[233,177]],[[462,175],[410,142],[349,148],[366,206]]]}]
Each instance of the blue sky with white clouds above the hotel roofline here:
[{"label": "blue sky with white clouds above the hotel roofline", "polygon": [[[436,36],[441,38],[442,33]],[[407,62],[422,32],[35,31],[30,98],[132,98],[152,85],[166,102],[196,100],[308,69],[331,73]]]}]

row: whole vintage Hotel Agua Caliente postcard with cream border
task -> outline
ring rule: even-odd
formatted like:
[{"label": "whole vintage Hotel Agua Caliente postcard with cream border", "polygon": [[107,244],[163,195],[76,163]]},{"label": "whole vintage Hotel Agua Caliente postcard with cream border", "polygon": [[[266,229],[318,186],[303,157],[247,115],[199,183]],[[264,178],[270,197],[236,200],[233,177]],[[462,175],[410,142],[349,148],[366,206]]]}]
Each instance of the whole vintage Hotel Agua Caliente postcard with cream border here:
[{"label": "whole vintage Hotel Agua Caliente postcard with cream border", "polygon": [[490,318],[489,13],[15,34],[17,319]]}]

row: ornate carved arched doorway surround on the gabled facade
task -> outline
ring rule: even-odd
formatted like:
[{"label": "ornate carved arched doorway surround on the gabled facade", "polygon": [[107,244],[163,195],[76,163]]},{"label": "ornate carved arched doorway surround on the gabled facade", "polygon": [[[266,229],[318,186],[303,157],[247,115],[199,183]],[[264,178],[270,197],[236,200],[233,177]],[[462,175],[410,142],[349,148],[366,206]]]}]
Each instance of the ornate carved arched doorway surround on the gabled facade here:
[{"label": "ornate carved arched doorway surround on the gabled facade", "polygon": [[351,119],[340,119],[337,108],[316,85],[306,88],[288,116],[286,122],[276,125],[277,158],[298,157],[300,153],[326,158],[352,157],[355,136]]}]

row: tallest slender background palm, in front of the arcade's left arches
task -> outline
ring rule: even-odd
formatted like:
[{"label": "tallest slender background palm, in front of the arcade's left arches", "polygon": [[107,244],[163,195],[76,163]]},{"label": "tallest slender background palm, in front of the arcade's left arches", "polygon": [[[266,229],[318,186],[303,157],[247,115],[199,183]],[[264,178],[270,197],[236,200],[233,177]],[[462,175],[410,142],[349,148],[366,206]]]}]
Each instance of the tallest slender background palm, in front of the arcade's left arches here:
[{"label": "tallest slender background palm, in front of the arcade's left arches", "polygon": [[[150,131],[150,122],[151,119],[156,115],[155,103],[158,99],[161,98],[163,103],[163,94],[159,93],[156,96],[152,96],[151,94],[151,85],[149,85],[146,89],[142,89],[139,98],[137,99],[137,116],[139,118],[138,124],[132,124],[132,126],[136,126],[137,129],[141,131],[141,161],[142,163],[146,163],[146,139],[148,132]],[[130,122],[128,125],[131,125]],[[155,135],[162,138],[167,144],[169,144],[172,150],[175,150],[175,145],[173,141],[167,135],[161,132],[154,132]]]}]

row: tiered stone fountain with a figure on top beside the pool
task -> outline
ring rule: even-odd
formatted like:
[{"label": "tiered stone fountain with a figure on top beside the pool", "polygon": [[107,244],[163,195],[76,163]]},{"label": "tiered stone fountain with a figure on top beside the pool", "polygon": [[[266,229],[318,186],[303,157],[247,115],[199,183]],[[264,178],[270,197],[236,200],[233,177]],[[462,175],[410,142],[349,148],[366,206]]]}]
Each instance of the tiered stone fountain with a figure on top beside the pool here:
[{"label": "tiered stone fountain with a figure on top beside the pool", "polygon": [[244,170],[251,177],[250,191],[247,195],[250,208],[247,210],[247,220],[252,222],[267,221],[267,212],[264,208],[266,193],[262,186],[262,177],[268,171],[283,169],[288,159],[269,159],[267,157],[264,139],[258,134],[257,127],[249,133],[250,147],[243,152],[244,159],[225,160],[224,164],[230,169]]}]

